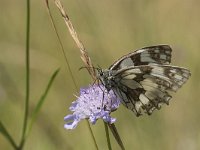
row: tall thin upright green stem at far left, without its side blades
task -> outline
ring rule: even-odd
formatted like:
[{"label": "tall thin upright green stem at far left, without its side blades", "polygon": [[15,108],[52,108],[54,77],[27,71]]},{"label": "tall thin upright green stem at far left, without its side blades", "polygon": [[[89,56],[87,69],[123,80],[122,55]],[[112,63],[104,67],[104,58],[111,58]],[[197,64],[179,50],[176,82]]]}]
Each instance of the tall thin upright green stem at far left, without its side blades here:
[{"label": "tall thin upright green stem at far left, without its side blades", "polygon": [[27,0],[27,15],[26,15],[26,99],[25,99],[25,113],[24,113],[24,124],[22,130],[22,138],[19,145],[19,149],[23,149],[25,142],[25,134],[27,129],[28,122],[28,113],[29,113],[29,89],[30,89],[30,56],[29,56],[29,47],[30,47],[30,0]]}]

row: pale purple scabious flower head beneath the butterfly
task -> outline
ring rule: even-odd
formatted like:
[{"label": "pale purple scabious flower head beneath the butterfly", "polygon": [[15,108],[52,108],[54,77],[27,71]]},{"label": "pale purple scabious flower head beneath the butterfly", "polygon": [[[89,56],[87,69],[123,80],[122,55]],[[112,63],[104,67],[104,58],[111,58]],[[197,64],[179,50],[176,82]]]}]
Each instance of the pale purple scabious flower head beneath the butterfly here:
[{"label": "pale purple scabious flower head beneath the butterfly", "polygon": [[66,129],[74,129],[82,119],[89,119],[95,124],[98,119],[103,119],[110,124],[116,121],[110,113],[119,107],[120,100],[114,92],[109,92],[103,85],[92,85],[80,89],[80,96],[70,106],[73,114],[67,115],[64,120]]}]

